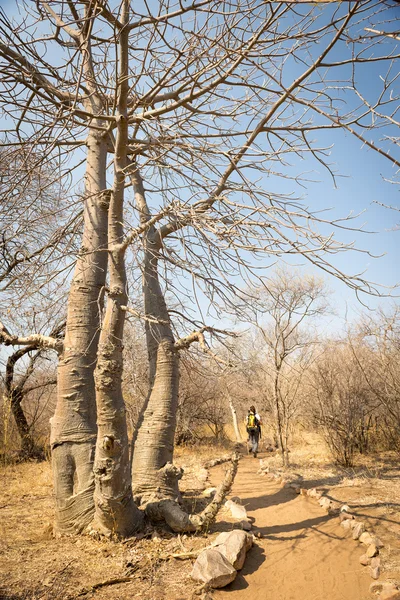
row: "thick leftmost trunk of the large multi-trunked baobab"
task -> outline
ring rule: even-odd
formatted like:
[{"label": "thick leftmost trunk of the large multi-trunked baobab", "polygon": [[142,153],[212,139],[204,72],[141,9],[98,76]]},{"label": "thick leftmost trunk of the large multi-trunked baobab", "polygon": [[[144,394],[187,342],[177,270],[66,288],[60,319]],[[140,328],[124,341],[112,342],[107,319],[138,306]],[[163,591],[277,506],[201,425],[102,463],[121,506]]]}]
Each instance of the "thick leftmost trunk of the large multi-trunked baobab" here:
[{"label": "thick leftmost trunk of the large multi-trunked baobab", "polygon": [[107,147],[87,139],[84,231],[68,297],[64,351],[58,366],[57,405],[51,422],[56,529],[82,531],[94,511],[93,459],[96,442],[96,365],[107,270]]}]

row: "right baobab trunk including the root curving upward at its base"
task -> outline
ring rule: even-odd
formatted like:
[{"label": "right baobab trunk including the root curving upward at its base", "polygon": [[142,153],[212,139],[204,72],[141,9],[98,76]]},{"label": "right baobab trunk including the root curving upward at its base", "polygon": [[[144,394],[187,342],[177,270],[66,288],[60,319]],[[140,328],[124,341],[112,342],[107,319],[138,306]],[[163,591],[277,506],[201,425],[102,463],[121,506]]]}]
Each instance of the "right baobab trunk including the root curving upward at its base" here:
[{"label": "right baobab trunk including the root curving upward at its base", "polygon": [[[132,182],[142,223],[150,219],[143,182],[133,170]],[[179,391],[179,352],[158,275],[161,235],[150,227],[144,238],[143,294],[146,340],[150,364],[150,394],[133,454],[133,491],[137,502],[155,521],[166,522],[177,532],[207,528],[230,489],[238,456],[232,459],[214,500],[200,515],[189,515],[179,506],[178,481],[182,470],[173,465]]]}]

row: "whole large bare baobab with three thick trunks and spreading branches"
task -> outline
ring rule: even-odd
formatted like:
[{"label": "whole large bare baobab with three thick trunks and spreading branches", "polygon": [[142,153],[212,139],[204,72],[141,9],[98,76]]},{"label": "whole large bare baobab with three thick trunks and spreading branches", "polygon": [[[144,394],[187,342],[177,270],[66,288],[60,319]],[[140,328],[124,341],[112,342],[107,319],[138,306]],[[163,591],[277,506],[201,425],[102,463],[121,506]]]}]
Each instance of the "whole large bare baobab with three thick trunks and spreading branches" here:
[{"label": "whole large bare baobab with three thick trunks and spreading branches", "polygon": [[[291,178],[288,156],[310,156],[330,170],[313,141],[326,129],[349,132],[400,164],[390,139],[374,134],[377,122],[382,130],[396,119],[395,40],[375,43],[365,32],[390,18],[391,2],[321,10],[260,0],[151,7],[39,0],[24,10],[22,18],[0,17],[5,143],[57,159],[59,177],[85,168],[65,338],[35,337],[59,353],[51,436],[57,526],[82,530],[94,510],[101,532],[128,535],[140,525],[121,392],[124,320],[132,312],[127,274],[137,280],[140,273],[150,391],[135,443],[135,497],[155,518],[195,527],[176,504],[179,352],[193,342],[206,347],[210,327],[182,310],[176,319],[169,298],[185,308],[190,282],[193,296],[223,311],[236,305],[237,277],[252,277],[252,257],[285,253],[373,291],[330,261],[349,245],[318,230],[351,228],[351,221],[310,212],[267,182]],[[355,74],[368,62],[382,63],[383,82],[366,105]],[[71,215],[75,198],[65,198]],[[32,342],[6,326],[2,339]]]}]

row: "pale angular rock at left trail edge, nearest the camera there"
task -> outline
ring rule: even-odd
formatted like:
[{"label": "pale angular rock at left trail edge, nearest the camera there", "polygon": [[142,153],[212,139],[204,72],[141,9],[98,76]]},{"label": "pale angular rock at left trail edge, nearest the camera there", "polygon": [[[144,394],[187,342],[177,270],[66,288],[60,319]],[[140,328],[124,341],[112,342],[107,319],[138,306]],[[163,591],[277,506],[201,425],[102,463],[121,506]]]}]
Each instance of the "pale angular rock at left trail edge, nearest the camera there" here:
[{"label": "pale angular rock at left trail edge, nearest the camera there", "polygon": [[211,588],[221,588],[231,583],[236,575],[236,569],[225,556],[218,550],[209,548],[197,557],[190,576]]}]

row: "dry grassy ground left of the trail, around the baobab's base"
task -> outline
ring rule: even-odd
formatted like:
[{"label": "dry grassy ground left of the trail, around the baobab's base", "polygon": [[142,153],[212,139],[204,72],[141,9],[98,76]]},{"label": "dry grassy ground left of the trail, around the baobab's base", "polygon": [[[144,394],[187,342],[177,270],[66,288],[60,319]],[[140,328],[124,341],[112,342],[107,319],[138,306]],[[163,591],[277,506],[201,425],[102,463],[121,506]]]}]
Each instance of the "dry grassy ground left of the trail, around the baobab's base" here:
[{"label": "dry grassy ground left of the trail, around the baobab's base", "polygon": [[[177,450],[177,462],[185,468],[181,487],[188,492],[191,510],[196,505],[200,510],[205,502],[196,472],[207,460],[225,453],[224,447],[212,444],[195,451]],[[191,561],[167,557],[206,546],[206,537],[177,537],[157,528],[125,543],[87,536],[55,539],[50,463],[7,465],[0,476],[2,600],[188,600],[196,590],[190,579]],[[91,590],[104,580],[123,577],[130,580]]]}]

